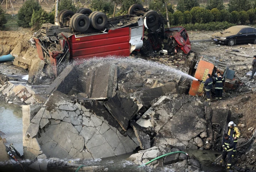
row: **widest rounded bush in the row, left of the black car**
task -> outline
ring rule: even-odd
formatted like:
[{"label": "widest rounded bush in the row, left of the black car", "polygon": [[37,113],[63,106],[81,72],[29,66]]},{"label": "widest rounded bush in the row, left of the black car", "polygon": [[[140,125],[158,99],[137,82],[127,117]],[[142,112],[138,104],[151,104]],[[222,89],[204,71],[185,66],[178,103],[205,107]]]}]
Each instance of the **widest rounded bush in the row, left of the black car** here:
[{"label": "widest rounded bush in the row, left of the black car", "polygon": [[190,13],[192,15],[192,23],[208,23],[214,20],[214,15],[211,14],[211,11],[202,7],[194,7]]}]

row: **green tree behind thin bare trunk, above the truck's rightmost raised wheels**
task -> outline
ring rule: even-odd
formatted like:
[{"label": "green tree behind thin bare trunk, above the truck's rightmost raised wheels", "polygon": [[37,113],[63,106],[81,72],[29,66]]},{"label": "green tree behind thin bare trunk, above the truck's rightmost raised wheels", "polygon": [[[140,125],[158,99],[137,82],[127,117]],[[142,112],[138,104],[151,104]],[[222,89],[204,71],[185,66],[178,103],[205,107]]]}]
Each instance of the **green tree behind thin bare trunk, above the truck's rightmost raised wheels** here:
[{"label": "green tree behind thin bare trunk, above the truck's rightmost raised wheels", "polygon": [[[157,12],[161,12],[161,14],[164,14],[164,16],[166,16],[166,9],[165,9],[165,1],[164,0],[154,0],[151,1],[151,3],[149,4],[149,9],[153,9]],[[173,13],[173,7],[171,4],[167,4],[167,9],[169,12]]]}]

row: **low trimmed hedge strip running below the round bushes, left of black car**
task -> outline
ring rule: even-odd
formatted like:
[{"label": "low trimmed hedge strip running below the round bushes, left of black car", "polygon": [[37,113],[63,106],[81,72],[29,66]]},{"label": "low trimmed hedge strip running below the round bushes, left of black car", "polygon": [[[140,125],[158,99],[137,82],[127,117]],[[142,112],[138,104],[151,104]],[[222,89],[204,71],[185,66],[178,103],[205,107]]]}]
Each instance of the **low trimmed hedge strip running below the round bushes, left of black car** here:
[{"label": "low trimmed hedge strip running below the round bushes, left of black car", "polygon": [[[181,25],[186,28],[186,30],[225,30],[235,24],[228,22],[210,22],[210,23],[195,23],[195,24],[183,24]],[[174,27],[174,26],[172,26]]]}]

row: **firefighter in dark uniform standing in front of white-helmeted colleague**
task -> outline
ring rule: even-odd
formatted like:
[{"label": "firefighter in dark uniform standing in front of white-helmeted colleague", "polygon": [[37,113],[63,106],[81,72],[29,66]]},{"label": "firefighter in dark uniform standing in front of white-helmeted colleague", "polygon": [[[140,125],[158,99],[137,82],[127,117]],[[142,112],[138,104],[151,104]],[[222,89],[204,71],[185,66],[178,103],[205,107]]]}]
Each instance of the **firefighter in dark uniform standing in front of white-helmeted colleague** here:
[{"label": "firefighter in dark uniform standing in front of white-helmeted colleague", "polygon": [[227,133],[225,133],[222,139],[223,153],[222,153],[222,160],[220,161],[220,163],[225,161],[227,156],[227,169],[231,167],[233,146],[234,146],[233,138],[229,136]]}]

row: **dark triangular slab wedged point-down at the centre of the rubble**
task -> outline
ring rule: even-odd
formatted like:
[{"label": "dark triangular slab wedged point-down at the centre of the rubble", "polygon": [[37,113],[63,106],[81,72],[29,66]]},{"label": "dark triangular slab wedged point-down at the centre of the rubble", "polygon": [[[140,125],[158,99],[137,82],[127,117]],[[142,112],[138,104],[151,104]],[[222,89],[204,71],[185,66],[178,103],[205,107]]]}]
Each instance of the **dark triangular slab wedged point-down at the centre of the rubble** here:
[{"label": "dark triangular slab wedged point-down at the centre of the rubble", "polygon": [[129,121],[133,119],[135,113],[138,111],[138,106],[131,98],[114,96],[113,98],[109,98],[104,105],[124,131],[127,130]]}]

